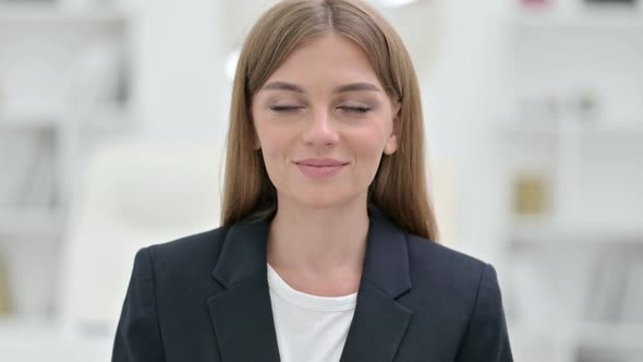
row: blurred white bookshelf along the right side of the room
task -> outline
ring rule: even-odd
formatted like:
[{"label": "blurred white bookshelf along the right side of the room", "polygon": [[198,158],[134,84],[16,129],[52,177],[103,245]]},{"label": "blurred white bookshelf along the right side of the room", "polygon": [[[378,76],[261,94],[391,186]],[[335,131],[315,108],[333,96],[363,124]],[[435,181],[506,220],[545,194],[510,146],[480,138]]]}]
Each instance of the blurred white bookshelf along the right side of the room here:
[{"label": "blurred white bookshelf along the right side of the room", "polygon": [[[515,359],[638,361],[641,4],[506,4],[499,82],[509,106],[490,132],[509,190],[501,255]],[[515,212],[515,180],[524,174],[543,188],[544,206],[532,215]]]}]

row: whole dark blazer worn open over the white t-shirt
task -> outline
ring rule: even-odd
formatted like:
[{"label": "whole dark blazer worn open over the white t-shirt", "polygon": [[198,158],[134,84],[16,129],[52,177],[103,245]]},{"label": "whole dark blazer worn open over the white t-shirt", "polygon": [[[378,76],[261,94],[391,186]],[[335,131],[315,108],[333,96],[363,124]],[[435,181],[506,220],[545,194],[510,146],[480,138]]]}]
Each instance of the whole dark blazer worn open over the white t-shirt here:
[{"label": "whole dark blazer worn open over the white t-shirt", "polygon": [[[368,213],[341,361],[512,361],[494,268]],[[244,220],[138,251],[112,362],[279,361],[267,230]]]}]

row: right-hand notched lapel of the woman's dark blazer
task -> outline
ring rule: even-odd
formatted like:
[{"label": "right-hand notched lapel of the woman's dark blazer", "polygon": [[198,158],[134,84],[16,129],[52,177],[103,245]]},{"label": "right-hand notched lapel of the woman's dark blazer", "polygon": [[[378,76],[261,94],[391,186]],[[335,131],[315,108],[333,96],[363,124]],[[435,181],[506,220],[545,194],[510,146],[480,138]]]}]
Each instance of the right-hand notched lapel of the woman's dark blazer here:
[{"label": "right-hand notched lapel of the woman's dark blazer", "polygon": [[371,225],[357,305],[341,362],[390,362],[395,359],[413,311],[396,301],[411,289],[407,240],[377,209]]}]

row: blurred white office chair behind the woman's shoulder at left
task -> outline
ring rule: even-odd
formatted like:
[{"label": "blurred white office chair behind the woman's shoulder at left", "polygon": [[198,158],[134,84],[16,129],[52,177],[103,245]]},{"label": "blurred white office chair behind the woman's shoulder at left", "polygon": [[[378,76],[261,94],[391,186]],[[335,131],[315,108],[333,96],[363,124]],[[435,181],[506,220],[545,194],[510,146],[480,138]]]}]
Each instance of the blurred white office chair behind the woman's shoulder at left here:
[{"label": "blurred white office chair behind the woman's shoulder at left", "polygon": [[222,149],[128,138],[89,157],[63,245],[68,331],[116,330],[138,249],[219,226]]}]

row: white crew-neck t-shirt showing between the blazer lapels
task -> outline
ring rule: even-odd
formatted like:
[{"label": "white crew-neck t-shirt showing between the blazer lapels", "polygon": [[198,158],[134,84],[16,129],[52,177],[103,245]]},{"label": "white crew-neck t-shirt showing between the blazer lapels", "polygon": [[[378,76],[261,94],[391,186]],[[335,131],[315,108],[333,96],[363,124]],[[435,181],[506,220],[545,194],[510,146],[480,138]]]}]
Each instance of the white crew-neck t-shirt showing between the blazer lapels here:
[{"label": "white crew-neck t-shirt showing between the blazer lapels", "polygon": [[317,297],[290,287],[268,264],[268,286],[282,362],[339,361],[357,293]]}]

